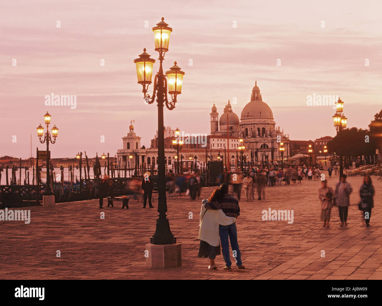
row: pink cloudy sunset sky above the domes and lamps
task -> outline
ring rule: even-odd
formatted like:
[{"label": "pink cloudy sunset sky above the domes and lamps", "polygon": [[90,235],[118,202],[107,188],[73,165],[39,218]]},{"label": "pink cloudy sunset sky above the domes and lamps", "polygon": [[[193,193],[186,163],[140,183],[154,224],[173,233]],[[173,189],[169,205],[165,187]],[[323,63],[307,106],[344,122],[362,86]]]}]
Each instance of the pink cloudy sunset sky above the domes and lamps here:
[{"label": "pink cloudy sunset sky above the domes and lamps", "polygon": [[[382,109],[381,11],[379,1],[3,0],[0,156],[27,158],[31,134],[34,156],[36,146],[44,150],[36,127],[46,111],[59,129],[52,158],[114,156],[130,120],[150,146],[157,107],[144,103],[133,60],[144,47],[157,59],[151,28],[162,16],[173,28],[163,68],[176,60],[185,72],[176,109],[164,111],[166,126],[209,133],[212,104],[220,116],[233,97],[240,118],[257,80],[291,140],[335,135],[335,110],[306,105],[313,93],[340,96],[348,127],[365,129]],[[45,106],[51,93],[76,95],[76,109]]]}]

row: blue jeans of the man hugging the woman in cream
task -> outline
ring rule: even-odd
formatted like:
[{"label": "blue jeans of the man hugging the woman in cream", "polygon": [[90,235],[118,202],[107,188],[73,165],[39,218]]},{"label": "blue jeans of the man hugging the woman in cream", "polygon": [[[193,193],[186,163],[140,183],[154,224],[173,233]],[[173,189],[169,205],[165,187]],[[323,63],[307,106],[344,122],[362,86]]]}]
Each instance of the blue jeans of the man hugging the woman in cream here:
[{"label": "blue jeans of the man hugging the woman in cream", "polygon": [[[230,225],[219,225],[220,242],[222,243],[222,253],[227,267],[231,267],[232,262],[230,259],[230,249],[228,244],[228,237],[230,238],[232,252],[236,251],[236,265],[239,267],[241,262],[241,254],[238,244],[238,233],[236,230],[236,223]],[[233,254],[235,255],[235,254]]]}]

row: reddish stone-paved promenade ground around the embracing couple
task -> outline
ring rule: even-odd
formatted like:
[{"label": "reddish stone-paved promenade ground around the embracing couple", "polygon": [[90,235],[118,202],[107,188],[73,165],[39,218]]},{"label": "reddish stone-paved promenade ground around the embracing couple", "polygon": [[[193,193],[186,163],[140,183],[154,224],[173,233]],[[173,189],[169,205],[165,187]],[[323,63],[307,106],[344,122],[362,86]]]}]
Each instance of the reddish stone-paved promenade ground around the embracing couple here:
[{"label": "reddish stone-paved promenade ground around the embracing couple", "polygon": [[[215,260],[218,270],[209,271],[209,260],[197,257],[201,200],[215,187],[203,188],[196,201],[167,197],[170,227],[182,244],[182,267],[165,270],[147,269],[144,257],[155,231],[157,194],[154,209],[130,201],[128,210],[118,202],[107,208],[106,200],[103,209],[98,200],[24,208],[31,210],[29,224],[0,221],[0,279],[381,279],[382,181],[372,179],[376,197],[369,228],[357,206],[363,177],[348,177],[353,193],[348,226],[343,227],[337,208],[332,209],[330,227],[322,227],[319,181],[267,187],[265,200],[250,202],[243,190],[237,229],[245,270],[234,263],[231,271],[222,270],[220,255]],[[329,186],[337,181],[332,176]],[[269,207],[293,210],[293,224],[262,221],[262,211]]]}]

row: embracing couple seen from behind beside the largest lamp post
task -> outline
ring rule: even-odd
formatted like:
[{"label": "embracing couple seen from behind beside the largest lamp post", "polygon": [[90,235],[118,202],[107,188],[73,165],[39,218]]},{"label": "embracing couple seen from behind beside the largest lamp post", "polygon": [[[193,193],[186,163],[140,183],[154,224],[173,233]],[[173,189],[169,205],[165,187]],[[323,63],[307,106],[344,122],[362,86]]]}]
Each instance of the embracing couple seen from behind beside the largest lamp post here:
[{"label": "embracing couple seen from behind beside the largest lamp post", "polygon": [[[210,259],[209,270],[216,270],[216,255],[220,255],[220,242],[222,243],[225,267],[223,270],[232,270],[228,238],[231,243],[233,257],[238,269],[244,269],[238,245],[236,219],[240,215],[239,202],[228,194],[228,185],[222,184],[212,192],[208,200],[202,201],[200,210],[199,230],[199,257]],[[219,241],[220,236],[220,241]]]}]

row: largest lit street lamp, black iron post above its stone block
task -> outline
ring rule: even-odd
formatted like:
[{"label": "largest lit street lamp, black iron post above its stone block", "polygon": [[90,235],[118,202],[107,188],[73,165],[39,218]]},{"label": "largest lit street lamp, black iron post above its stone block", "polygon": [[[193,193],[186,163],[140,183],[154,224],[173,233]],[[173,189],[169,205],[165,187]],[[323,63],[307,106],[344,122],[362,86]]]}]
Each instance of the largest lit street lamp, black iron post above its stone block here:
[{"label": "largest lit street lamp, black iron post above its stone block", "polygon": [[[166,173],[165,173],[165,151],[164,151],[164,129],[163,129],[163,106],[171,111],[175,108],[176,96],[181,94],[183,84],[183,71],[174,62],[174,66],[163,73],[162,62],[165,53],[168,51],[168,45],[170,42],[170,33],[172,28],[168,27],[168,24],[162,21],[157,23],[157,26],[152,28],[154,32],[154,44],[155,51],[159,52],[159,71],[154,77],[154,91],[152,96],[147,93],[147,89],[151,84],[154,59],[150,58],[150,55],[146,53],[146,48],[143,49],[143,53],[139,55],[138,59],[134,60],[136,64],[138,83],[142,84],[144,99],[146,103],[154,103],[155,97],[157,97],[158,105],[158,212],[159,218],[157,219],[157,225],[155,233],[150,239],[152,244],[175,244],[176,238],[171,233],[170,224],[166,218],[167,201],[166,201]],[[167,78],[166,78],[167,77]],[[168,93],[171,95],[172,100],[168,101],[167,98],[167,86]]]}]

